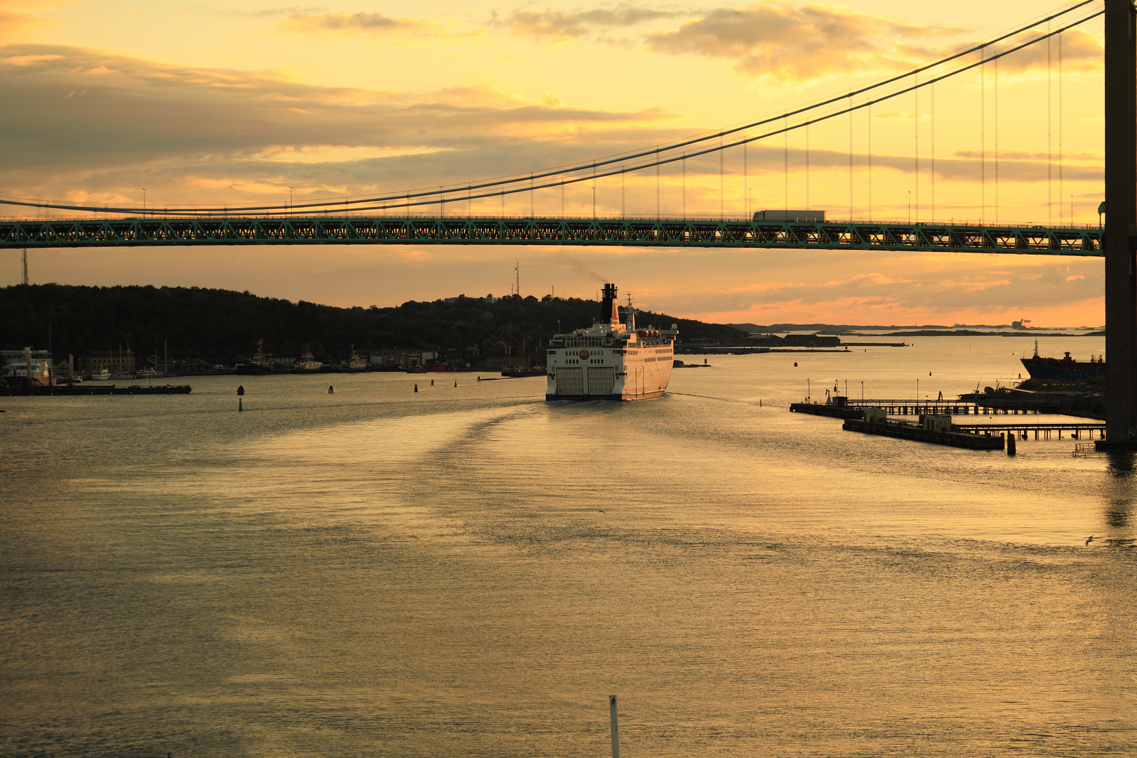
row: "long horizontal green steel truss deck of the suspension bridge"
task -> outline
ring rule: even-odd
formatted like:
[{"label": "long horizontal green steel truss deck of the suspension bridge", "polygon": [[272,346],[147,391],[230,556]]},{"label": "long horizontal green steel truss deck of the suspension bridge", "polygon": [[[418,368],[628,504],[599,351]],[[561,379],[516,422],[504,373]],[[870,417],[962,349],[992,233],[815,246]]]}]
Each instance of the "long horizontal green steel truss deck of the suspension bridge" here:
[{"label": "long horizontal green steel truss deck of the suspension bridge", "polygon": [[1095,228],[717,219],[305,216],[0,219],[0,248],[547,244],[1101,256]]}]

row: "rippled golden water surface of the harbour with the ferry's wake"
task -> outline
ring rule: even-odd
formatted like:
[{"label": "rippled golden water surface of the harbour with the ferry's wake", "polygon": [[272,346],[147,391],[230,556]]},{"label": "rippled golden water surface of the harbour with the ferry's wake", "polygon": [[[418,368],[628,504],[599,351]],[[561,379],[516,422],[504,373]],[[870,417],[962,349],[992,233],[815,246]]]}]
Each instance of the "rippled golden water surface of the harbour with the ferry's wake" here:
[{"label": "rippled golden water surface of the harbour with the ferry's wake", "polygon": [[[1040,347],[1104,351],[1070,343]],[[616,693],[631,757],[1135,755],[1127,461],[787,410],[1030,350],[714,357],[621,405],[470,374],[2,399],[0,752],[603,756]]]}]

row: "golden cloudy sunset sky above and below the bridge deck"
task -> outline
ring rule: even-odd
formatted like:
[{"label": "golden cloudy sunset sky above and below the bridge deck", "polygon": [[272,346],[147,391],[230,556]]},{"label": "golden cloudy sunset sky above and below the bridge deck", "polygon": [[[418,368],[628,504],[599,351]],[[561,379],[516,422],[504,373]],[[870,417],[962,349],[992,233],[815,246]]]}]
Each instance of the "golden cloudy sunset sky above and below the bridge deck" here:
[{"label": "golden cloudy sunset sky above and below the bridge deck", "polygon": [[[0,195],[141,205],[147,188],[148,207],[235,206],[285,202],[290,186],[301,202],[528,174],[780,114],[1068,7],[338,1],[0,0]],[[936,85],[935,118],[927,89],[919,106],[912,93],[874,106],[871,206],[868,111],[811,127],[810,207],[848,218],[852,195],[855,218],[1072,214],[1096,225],[1101,45],[1097,18],[1062,35],[1061,77],[1056,40],[1049,76],[1045,43],[1002,59],[997,89],[988,65],[982,109],[978,69]],[[802,131],[788,147],[754,143],[744,177],[742,151],[729,151],[721,195],[717,158],[689,160],[687,215],[805,207],[805,156]],[[680,165],[659,182],[661,213],[681,215]],[[621,197],[619,178],[600,181],[597,213],[620,214]],[[629,176],[623,197],[629,214],[654,215],[654,169]],[[554,190],[532,198],[537,214],[558,215],[561,202]],[[591,215],[591,203],[587,184],[566,190],[565,213]],[[467,210],[500,213],[500,201],[447,206]],[[529,195],[506,213],[528,215]],[[0,284],[17,283],[18,255],[5,257]],[[1104,322],[1098,259],[383,245],[28,258],[33,283],[218,286],[335,306],[506,294],[520,261],[523,294],[594,297],[599,277],[642,308],[716,322]]]}]

